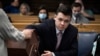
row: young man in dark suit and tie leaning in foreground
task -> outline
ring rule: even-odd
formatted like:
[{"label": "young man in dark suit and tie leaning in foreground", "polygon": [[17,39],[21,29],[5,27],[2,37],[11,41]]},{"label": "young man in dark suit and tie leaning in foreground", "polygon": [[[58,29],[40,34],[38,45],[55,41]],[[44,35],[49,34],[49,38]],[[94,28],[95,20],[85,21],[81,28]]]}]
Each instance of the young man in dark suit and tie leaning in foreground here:
[{"label": "young man in dark suit and tie leaning in foreground", "polygon": [[[48,19],[39,25],[29,25],[23,33],[29,37],[33,31],[39,35],[39,52],[41,56],[77,56],[78,54],[78,30],[70,24],[71,10],[66,6],[57,9],[54,19]],[[60,35],[60,44],[58,33]],[[34,41],[34,40],[33,40]]]}]

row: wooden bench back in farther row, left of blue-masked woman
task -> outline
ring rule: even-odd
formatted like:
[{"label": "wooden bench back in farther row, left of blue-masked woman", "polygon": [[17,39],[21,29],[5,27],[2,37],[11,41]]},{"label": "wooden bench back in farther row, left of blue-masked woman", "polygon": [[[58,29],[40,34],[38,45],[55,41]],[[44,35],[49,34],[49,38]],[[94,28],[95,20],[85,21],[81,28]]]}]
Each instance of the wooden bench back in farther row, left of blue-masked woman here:
[{"label": "wooden bench back in farther row, left of blue-masked woman", "polygon": [[35,16],[22,16],[19,14],[8,14],[13,23],[38,23],[39,19]]}]

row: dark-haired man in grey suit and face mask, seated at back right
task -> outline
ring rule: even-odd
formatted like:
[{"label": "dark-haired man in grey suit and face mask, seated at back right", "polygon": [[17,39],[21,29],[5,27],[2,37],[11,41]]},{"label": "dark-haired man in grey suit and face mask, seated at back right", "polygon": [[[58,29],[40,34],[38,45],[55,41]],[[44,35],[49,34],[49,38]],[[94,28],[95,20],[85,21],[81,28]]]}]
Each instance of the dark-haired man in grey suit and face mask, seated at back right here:
[{"label": "dark-haired man in grey suit and face mask, seated at back right", "polygon": [[89,20],[81,13],[82,5],[78,2],[72,4],[71,23],[89,23]]}]

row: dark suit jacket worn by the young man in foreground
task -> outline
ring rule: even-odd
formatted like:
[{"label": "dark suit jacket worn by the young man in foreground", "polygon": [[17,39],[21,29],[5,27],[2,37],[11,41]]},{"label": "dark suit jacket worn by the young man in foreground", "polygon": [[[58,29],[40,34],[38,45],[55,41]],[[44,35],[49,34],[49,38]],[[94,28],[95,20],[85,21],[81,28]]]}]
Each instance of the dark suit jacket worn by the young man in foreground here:
[{"label": "dark suit jacket worn by the young man in foreground", "polygon": [[71,24],[65,29],[61,44],[56,50],[57,36],[54,20],[47,20],[40,25],[29,25],[26,28],[36,29],[36,33],[40,37],[39,52],[43,53],[44,50],[49,50],[55,53],[56,56],[77,56],[78,30]]}]

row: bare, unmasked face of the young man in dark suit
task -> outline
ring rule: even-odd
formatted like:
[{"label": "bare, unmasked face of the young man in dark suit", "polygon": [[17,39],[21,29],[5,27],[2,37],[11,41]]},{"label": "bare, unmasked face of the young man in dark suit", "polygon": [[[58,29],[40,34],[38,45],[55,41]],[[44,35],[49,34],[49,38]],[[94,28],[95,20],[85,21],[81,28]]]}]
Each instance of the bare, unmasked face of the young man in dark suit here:
[{"label": "bare, unmasked face of the young man in dark suit", "polygon": [[59,30],[64,30],[68,27],[71,20],[71,16],[64,15],[63,13],[59,12],[54,19],[56,28]]}]

